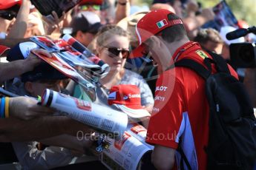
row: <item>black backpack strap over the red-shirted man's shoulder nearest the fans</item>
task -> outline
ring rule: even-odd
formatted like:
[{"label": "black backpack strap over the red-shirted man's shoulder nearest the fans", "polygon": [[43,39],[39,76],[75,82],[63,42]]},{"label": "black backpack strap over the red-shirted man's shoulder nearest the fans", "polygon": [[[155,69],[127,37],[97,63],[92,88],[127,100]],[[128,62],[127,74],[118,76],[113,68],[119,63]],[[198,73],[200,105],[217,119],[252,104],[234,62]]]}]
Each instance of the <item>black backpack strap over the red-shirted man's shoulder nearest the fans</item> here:
[{"label": "black backpack strap over the red-shirted man's shoulder nearest the fans", "polygon": [[184,58],[180,61],[177,61],[175,64],[171,65],[171,67],[168,67],[168,69],[172,69],[174,67],[188,67],[189,69],[192,69],[195,72],[197,72],[197,74],[205,80],[209,78],[209,75],[211,75],[211,64],[206,64],[206,67],[209,67],[209,69],[206,69],[206,67],[203,67],[202,64],[199,64],[196,61],[188,58]]}]

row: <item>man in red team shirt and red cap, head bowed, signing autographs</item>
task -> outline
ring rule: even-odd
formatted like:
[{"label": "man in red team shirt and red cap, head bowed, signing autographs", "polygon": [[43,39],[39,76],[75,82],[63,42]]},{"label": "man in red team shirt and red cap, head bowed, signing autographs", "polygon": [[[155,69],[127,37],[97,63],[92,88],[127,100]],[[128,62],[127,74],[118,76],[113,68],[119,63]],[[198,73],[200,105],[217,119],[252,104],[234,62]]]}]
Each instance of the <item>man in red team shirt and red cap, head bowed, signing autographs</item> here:
[{"label": "man in red team shirt and red cap, head bowed, signing autographs", "polygon": [[[183,165],[188,169],[180,152],[176,152],[180,146],[191,169],[206,169],[204,148],[209,139],[209,104],[205,81],[186,67],[168,67],[183,58],[203,64],[204,58],[211,56],[198,43],[188,40],[183,21],[168,10],[146,14],[137,23],[136,31],[140,46],[131,57],[149,52],[157,62],[160,74],[146,138],[147,143],[155,146],[152,153],[154,166],[157,169],[180,169]],[[216,72],[212,67],[212,72]],[[237,78],[236,72],[231,67],[229,69]]]}]

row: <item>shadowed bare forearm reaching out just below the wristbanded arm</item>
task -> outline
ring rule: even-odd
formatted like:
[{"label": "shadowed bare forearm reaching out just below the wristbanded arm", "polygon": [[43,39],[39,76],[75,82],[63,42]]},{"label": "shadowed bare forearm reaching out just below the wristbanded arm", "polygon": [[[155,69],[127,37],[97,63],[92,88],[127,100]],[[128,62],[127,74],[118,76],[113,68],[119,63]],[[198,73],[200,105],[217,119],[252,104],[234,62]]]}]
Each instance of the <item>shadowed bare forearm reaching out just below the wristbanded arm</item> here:
[{"label": "shadowed bare forearm reaching out just below the wristbanded arm", "polygon": [[16,118],[0,119],[0,139],[7,141],[41,140],[62,134],[76,135],[78,131],[88,132],[87,126],[62,116],[45,116],[33,120]]}]

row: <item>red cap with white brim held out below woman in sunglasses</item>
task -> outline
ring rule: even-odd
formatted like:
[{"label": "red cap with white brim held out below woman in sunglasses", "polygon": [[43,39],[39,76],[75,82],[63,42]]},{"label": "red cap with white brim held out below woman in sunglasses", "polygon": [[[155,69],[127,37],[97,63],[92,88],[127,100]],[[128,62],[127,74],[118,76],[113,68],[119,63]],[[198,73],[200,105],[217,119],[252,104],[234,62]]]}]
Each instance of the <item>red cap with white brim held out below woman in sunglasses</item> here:
[{"label": "red cap with white brim held out below woman in sunglasses", "polygon": [[122,112],[125,112],[131,118],[150,116],[149,112],[141,106],[140,100],[140,89],[131,84],[112,86],[108,95],[108,104],[116,104]]}]

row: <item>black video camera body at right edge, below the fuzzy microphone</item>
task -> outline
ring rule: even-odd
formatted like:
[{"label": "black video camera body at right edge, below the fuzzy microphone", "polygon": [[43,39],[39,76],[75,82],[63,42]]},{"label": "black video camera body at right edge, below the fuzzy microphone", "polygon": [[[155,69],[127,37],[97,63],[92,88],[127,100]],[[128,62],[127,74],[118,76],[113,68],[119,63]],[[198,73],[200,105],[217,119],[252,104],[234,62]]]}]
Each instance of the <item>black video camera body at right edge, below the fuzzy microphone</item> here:
[{"label": "black video camera body at right edge, below the fuzzy microphone", "polygon": [[230,44],[230,64],[234,68],[255,68],[256,67],[256,44],[235,43]]}]

